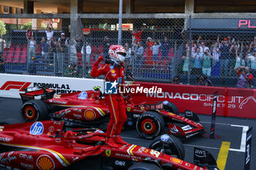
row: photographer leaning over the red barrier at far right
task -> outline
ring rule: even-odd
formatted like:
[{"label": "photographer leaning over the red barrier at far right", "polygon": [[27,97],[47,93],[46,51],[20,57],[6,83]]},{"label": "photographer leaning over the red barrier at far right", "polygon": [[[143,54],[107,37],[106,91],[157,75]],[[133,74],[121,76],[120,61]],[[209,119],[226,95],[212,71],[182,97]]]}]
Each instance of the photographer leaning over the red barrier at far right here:
[{"label": "photographer leaning over the red barrier at far right", "polygon": [[249,73],[248,66],[237,66],[234,68],[236,74],[238,74],[238,82],[236,88],[253,88],[252,79],[253,75]]}]

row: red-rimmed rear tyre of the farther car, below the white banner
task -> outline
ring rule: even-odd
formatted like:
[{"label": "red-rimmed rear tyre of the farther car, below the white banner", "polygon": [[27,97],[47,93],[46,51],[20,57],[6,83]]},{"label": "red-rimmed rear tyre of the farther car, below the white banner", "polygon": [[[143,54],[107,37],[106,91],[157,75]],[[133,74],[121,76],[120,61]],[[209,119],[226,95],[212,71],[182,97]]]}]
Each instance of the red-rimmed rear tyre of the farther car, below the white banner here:
[{"label": "red-rimmed rear tyre of the farther car, below the white banner", "polygon": [[41,100],[26,101],[20,109],[20,114],[24,122],[35,122],[48,118],[46,104]]}]

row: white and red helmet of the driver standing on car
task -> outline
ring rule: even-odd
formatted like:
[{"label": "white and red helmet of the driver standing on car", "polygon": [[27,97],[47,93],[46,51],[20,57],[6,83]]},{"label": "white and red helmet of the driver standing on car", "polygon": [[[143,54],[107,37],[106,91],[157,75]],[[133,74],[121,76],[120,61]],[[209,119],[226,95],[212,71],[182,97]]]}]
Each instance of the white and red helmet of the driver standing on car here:
[{"label": "white and red helmet of the driver standing on car", "polygon": [[126,50],[121,45],[111,45],[108,50],[108,55],[111,59],[124,63],[125,56],[127,55]]}]

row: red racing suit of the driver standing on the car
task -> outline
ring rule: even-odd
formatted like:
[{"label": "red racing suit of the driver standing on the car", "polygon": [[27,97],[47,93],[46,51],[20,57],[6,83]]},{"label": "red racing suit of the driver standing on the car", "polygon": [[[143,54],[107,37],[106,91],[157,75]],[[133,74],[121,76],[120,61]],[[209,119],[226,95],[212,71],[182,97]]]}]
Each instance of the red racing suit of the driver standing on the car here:
[{"label": "red racing suit of the driver standing on the car", "polygon": [[[102,60],[102,56],[94,63],[91,69],[91,77],[105,76],[105,81],[116,82],[124,84],[124,65],[104,63],[99,66],[99,62]],[[124,98],[121,93],[117,94],[105,94],[105,99],[110,109],[110,122],[108,124],[107,135],[109,137],[118,136],[121,133],[121,128],[124,122],[127,120],[125,111]]]}]

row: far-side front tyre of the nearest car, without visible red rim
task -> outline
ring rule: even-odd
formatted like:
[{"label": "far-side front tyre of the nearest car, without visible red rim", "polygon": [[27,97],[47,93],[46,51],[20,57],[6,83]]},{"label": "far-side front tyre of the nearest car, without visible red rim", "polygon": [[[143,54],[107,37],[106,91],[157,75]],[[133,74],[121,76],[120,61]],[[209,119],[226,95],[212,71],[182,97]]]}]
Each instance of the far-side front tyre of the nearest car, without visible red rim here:
[{"label": "far-side front tyre of the nearest car, without visible red rim", "polygon": [[[185,158],[184,145],[175,136],[173,135],[168,135],[168,136],[170,136],[170,139],[168,140],[168,142],[164,143],[165,154],[184,160]],[[158,136],[156,139],[154,139],[154,141],[149,145],[149,148],[160,152],[163,144],[160,138],[161,136]]]}]

